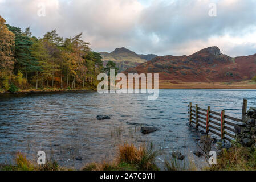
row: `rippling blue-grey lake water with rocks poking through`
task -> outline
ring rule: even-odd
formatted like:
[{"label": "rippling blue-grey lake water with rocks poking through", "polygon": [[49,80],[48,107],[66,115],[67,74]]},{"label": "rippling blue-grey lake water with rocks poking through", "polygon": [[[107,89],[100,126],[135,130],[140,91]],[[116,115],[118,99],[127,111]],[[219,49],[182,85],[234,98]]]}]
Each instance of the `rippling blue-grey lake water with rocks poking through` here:
[{"label": "rippling blue-grey lake water with rocks poking through", "polygon": [[[0,163],[13,162],[18,151],[36,159],[36,152],[43,150],[61,165],[79,169],[84,163],[112,158],[122,142],[153,142],[165,155],[173,150],[191,154],[200,133],[187,125],[189,102],[218,112],[224,109],[237,118],[243,98],[248,106],[256,106],[256,90],[162,89],[157,100],[147,98],[97,92],[3,94]],[[98,121],[99,114],[111,119]],[[143,135],[139,130],[145,125],[160,130]]]}]

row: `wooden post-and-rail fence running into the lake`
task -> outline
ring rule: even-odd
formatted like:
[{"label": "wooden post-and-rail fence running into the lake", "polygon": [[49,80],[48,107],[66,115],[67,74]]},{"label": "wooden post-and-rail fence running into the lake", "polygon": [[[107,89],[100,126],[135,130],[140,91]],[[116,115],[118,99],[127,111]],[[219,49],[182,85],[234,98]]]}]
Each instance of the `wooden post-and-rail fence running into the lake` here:
[{"label": "wooden post-and-rail fence running into the lake", "polygon": [[[196,128],[201,127],[205,129],[206,134],[213,133],[216,134],[221,139],[231,140],[235,139],[235,130],[236,126],[235,122],[241,122],[242,119],[237,119],[225,114],[225,110],[222,110],[221,113],[217,113],[215,111],[210,110],[208,106],[207,109],[202,109],[198,107],[196,104],[192,106],[190,102],[188,105],[188,114],[189,114],[189,124],[192,123],[196,126]],[[247,100],[243,100],[243,108],[242,108],[242,118],[244,117],[247,110]]]}]

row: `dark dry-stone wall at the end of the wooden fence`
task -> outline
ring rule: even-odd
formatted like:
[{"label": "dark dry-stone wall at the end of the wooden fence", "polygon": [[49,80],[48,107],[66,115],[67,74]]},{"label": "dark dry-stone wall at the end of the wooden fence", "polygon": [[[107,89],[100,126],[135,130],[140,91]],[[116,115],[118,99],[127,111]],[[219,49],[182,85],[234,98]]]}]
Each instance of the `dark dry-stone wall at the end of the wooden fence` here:
[{"label": "dark dry-stone wall at the end of the wooden fence", "polygon": [[256,107],[250,107],[242,122],[235,123],[235,137],[245,147],[250,147],[256,141]]}]

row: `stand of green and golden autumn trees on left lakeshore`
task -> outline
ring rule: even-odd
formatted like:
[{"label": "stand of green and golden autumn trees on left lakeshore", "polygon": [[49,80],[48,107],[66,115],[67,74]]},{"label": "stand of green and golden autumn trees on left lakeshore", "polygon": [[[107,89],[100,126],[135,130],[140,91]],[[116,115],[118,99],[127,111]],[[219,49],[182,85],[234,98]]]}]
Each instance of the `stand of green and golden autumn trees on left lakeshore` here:
[{"label": "stand of green and golden autumn trees on left lakeshore", "polygon": [[[0,78],[1,86],[15,90],[25,89],[39,83],[43,88],[59,86],[95,88],[96,77],[104,72],[100,53],[91,50],[90,43],[84,42],[83,33],[63,39],[56,30],[46,32],[43,38],[32,37],[30,27],[21,28],[5,24],[0,16]],[[63,41],[64,40],[64,41]],[[116,68],[108,64],[109,68]],[[117,72],[116,72],[117,73]],[[25,78],[24,78],[25,77]]]}]

